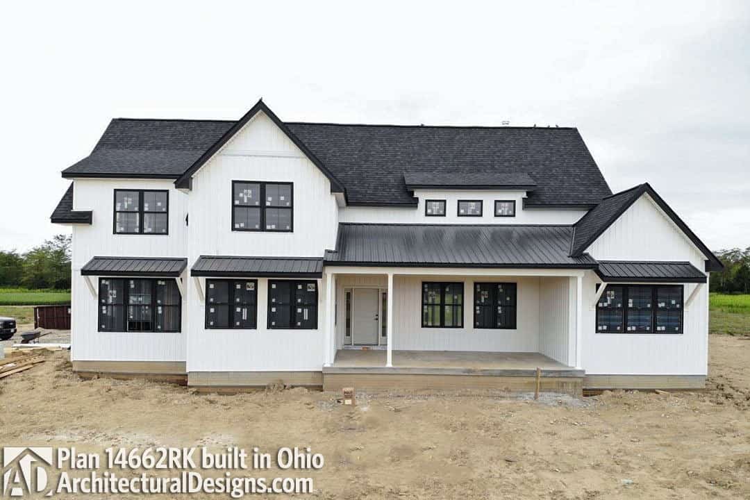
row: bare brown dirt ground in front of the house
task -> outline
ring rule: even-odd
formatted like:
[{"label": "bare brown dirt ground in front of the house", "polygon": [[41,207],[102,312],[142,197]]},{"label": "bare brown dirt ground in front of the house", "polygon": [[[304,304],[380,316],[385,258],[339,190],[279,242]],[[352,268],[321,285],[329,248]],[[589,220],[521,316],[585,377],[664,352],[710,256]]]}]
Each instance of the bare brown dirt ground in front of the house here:
[{"label": "bare brown dirt ground in front of the house", "polygon": [[318,499],[750,498],[750,337],[711,336],[705,392],[358,394],[354,408],[299,388],[83,381],[67,353],[47,356],[0,380],[0,445],[310,446],[320,471],[251,475],[309,476]]}]

